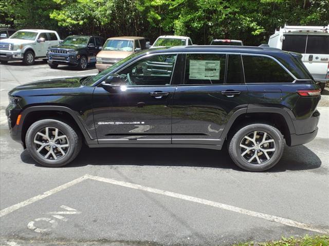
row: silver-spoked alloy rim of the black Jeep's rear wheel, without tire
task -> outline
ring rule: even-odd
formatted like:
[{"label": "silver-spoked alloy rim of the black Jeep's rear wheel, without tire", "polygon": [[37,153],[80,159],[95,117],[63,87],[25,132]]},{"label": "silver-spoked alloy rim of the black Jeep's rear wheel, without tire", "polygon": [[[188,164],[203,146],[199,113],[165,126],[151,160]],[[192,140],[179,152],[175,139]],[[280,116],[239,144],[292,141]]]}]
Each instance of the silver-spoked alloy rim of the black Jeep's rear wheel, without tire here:
[{"label": "silver-spoked alloy rim of the black Jeep's rear wheel, without tire", "polygon": [[274,139],[264,131],[250,132],[240,142],[240,154],[251,164],[259,165],[267,162],[275,151]]}]

